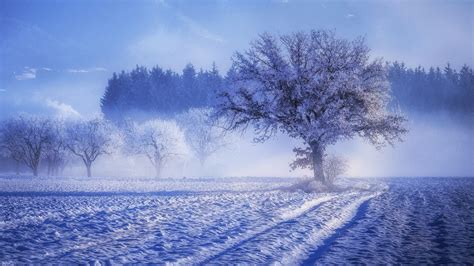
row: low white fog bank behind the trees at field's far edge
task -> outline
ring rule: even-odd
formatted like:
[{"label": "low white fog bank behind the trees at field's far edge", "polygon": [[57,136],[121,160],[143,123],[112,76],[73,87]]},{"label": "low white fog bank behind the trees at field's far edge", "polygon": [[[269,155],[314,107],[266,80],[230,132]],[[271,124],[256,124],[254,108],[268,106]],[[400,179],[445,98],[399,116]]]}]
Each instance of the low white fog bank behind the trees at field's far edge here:
[{"label": "low white fog bank behind the trees at field's far edge", "polygon": [[[328,154],[348,161],[348,177],[474,176],[474,126],[472,117],[446,113],[409,116],[404,141],[376,149],[360,138],[330,146]],[[188,151],[166,164],[165,178],[196,177],[304,177],[310,170],[291,171],[292,149],[299,141],[277,135],[265,143],[253,142],[251,131],[231,134],[227,145],[201,166]],[[26,170],[26,169],[25,169]],[[94,176],[153,177],[155,170],[145,156],[116,153],[100,157],[92,166]],[[25,172],[27,174],[28,172]],[[84,176],[85,167],[73,161],[63,175]]]}]

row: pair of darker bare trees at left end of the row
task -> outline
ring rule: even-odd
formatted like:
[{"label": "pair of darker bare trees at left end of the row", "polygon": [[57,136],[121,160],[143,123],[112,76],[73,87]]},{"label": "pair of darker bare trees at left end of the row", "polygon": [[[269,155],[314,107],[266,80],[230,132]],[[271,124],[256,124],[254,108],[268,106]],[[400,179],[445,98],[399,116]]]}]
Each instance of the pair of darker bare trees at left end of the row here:
[{"label": "pair of darker bare trees at left end of the row", "polygon": [[19,116],[1,124],[0,149],[4,156],[28,166],[34,176],[38,176],[43,161],[47,163],[48,174],[57,174],[69,155],[80,158],[90,176],[92,163],[114,147],[111,129],[101,119],[65,122]]}]

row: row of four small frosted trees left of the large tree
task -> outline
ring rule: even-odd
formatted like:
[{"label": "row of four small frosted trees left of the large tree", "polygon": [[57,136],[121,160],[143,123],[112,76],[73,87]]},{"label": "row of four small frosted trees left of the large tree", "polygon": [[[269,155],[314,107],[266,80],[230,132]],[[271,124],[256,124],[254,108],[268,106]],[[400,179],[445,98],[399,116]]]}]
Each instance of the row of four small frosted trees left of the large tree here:
[{"label": "row of four small frosted trees left of the large tree", "polygon": [[225,135],[209,114],[209,109],[190,109],[177,121],[127,121],[121,128],[104,119],[64,121],[19,116],[1,123],[0,152],[28,166],[35,176],[42,162],[50,175],[76,158],[82,161],[89,177],[99,157],[122,152],[148,158],[159,177],[174,158],[192,152],[204,164],[224,146]]}]

